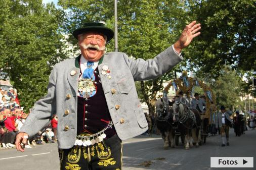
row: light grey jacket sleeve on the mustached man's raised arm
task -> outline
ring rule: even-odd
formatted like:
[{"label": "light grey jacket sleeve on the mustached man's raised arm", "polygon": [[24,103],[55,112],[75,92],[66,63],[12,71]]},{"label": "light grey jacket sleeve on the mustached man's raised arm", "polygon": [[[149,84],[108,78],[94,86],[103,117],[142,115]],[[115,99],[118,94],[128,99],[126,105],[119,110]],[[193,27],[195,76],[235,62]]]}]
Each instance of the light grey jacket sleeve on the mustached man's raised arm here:
[{"label": "light grey jacket sleeve on the mustached man's raised arm", "polygon": [[123,53],[123,58],[130,68],[135,81],[155,79],[168,72],[183,60],[182,56],[175,53],[172,46],[168,47],[154,59],[131,59]]}]

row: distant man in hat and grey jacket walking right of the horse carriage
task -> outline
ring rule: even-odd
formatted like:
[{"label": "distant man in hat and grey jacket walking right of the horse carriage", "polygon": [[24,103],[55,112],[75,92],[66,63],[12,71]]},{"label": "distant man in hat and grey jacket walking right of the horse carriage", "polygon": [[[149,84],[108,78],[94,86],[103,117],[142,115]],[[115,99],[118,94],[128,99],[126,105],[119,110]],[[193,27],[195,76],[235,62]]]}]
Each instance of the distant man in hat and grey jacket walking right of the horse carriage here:
[{"label": "distant man in hat and grey jacket walking right of the horse carriage", "polygon": [[222,146],[229,146],[229,127],[233,124],[230,115],[232,112],[226,110],[225,106],[221,106],[221,111],[217,115],[216,127],[220,128]]}]

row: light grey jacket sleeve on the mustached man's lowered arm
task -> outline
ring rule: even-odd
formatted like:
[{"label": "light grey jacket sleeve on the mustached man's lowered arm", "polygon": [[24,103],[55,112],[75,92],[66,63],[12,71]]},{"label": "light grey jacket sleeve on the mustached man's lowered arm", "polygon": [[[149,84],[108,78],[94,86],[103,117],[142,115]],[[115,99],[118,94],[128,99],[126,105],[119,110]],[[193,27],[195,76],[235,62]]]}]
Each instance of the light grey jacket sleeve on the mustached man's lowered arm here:
[{"label": "light grey jacket sleeve on the mustached man's lowered arm", "polygon": [[47,95],[35,102],[31,113],[27,117],[19,132],[25,132],[29,136],[33,136],[50,123],[51,116],[56,112],[56,80],[57,72],[56,67],[54,67],[49,77]]}]

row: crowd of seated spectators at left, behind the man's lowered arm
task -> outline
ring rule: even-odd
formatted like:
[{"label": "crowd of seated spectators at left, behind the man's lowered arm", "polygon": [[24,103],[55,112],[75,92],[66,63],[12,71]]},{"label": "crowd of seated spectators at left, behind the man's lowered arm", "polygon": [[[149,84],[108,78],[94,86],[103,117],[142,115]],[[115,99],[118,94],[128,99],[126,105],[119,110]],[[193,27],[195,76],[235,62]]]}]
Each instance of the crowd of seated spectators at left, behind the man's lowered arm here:
[{"label": "crowd of seated spectators at left, behind the man's lowered arm", "polygon": [[[23,112],[23,107],[17,96],[17,90],[12,87],[9,91],[0,88],[0,148],[14,148],[16,134],[19,132],[28,114]],[[25,148],[31,145],[54,143],[57,135],[57,116],[53,116],[49,126],[29,138]]]}]

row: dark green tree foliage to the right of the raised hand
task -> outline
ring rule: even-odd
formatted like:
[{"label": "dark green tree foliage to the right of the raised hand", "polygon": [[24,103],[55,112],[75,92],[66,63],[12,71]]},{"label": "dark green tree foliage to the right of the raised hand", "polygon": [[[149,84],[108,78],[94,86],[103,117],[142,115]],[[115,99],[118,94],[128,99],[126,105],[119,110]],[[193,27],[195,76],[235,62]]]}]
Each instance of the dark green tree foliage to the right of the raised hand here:
[{"label": "dark green tree foliage to the right of the raised hand", "polygon": [[201,35],[187,54],[201,73],[218,77],[223,65],[238,71],[256,70],[255,0],[188,0],[191,18]]}]

